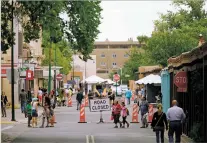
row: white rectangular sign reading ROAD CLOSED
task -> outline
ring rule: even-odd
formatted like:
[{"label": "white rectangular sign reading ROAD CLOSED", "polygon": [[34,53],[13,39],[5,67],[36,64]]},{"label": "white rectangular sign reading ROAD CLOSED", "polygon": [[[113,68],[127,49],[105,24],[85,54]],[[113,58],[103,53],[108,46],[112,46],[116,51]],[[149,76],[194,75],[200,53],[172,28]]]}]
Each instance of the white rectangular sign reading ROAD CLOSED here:
[{"label": "white rectangular sign reading ROAD CLOSED", "polygon": [[100,111],[110,111],[111,106],[109,99],[90,99],[90,111],[100,112]]}]

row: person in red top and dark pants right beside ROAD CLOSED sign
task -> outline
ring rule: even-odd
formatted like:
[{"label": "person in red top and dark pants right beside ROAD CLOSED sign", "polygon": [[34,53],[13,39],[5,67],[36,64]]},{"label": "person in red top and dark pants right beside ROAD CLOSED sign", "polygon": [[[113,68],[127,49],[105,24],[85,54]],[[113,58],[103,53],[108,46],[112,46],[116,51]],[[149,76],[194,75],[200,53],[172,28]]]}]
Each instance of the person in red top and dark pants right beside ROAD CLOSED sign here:
[{"label": "person in red top and dark pants right beside ROAD CLOSED sign", "polygon": [[120,128],[122,127],[122,123],[119,120],[121,115],[121,105],[119,104],[118,101],[115,101],[115,111],[114,111],[114,123],[115,123],[115,127],[114,128],[118,128],[117,123],[120,124]]}]

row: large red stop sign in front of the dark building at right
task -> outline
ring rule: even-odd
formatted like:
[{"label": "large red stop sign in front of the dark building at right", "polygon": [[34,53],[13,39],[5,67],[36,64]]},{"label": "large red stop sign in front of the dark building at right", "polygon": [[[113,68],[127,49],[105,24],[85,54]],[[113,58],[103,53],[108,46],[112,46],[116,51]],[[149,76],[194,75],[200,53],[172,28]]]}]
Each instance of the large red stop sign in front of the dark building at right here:
[{"label": "large red stop sign in front of the dark building at right", "polygon": [[178,87],[178,92],[187,92],[188,78],[187,72],[178,72],[174,77],[174,84]]}]

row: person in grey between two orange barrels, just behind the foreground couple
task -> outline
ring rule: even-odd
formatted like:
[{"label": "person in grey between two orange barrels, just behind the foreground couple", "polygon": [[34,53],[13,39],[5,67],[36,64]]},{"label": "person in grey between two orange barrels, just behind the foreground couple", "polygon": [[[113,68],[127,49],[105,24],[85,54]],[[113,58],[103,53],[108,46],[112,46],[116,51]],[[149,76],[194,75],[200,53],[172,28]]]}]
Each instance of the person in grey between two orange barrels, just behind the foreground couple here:
[{"label": "person in grey between two orange barrels, just behind the foreground couple", "polygon": [[141,111],[141,121],[142,121],[142,126],[141,128],[147,128],[148,127],[148,122],[146,121],[146,114],[149,111],[149,104],[146,100],[145,97],[142,97],[142,101],[139,105],[139,110]]}]

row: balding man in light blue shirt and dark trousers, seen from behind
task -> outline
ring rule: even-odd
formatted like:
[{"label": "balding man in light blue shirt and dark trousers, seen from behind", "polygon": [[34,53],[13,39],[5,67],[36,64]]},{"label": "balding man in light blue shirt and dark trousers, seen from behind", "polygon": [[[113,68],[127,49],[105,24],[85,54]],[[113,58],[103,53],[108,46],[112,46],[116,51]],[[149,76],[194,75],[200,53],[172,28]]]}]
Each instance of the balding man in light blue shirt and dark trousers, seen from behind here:
[{"label": "balding man in light blue shirt and dark trousers, seen from behind", "polygon": [[180,143],[182,135],[182,123],[184,122],[186,116],[182,108],[177,106],[177,101],[172,101],[171,108],[167,111],[167,119],[169,121],[169,143],[174,143],[174,133],[175,133],[175,142]]}]

